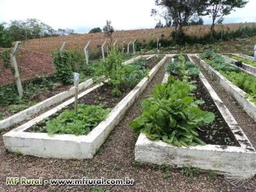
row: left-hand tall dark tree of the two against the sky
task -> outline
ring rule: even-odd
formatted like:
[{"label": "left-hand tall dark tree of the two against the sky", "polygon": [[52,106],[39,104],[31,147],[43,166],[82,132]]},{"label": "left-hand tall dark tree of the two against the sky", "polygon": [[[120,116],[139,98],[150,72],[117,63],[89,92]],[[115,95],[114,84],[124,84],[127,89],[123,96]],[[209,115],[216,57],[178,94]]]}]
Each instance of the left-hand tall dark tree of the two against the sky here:
[{"label": "left-hand tall dark tree of the two against the sky", "polygon": [[[193,15],[203,15],[206,7],[207,0],[155,0],[155,4],[164,9],[160,13],[166,21],[173,21],[175,23],[175,37],[174,41],[177,42],[182,30],[182,27],[189,21]],[[158,11],[153,9],[151,15],[159,14]]]}]

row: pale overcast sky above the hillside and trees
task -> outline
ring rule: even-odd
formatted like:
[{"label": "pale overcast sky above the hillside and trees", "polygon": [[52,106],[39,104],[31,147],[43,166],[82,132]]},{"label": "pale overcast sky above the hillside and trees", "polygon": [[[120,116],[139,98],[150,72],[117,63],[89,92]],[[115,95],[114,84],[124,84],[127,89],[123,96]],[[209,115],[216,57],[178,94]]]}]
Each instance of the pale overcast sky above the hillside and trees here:
[{"label": "pale overcast sky above the hillside and trees", "polygon": [[[71,28],[86,33],[91,28],[102,28],[111,20],[116,30],[154,28],[150,17],[154,0],[0,0],[0,22],[36,18],[54,29]],[[232,12],[223,23],[256,22],[256,1],[250,0],[243,8]],[[204,17],[205,24],[210,22]]]}]

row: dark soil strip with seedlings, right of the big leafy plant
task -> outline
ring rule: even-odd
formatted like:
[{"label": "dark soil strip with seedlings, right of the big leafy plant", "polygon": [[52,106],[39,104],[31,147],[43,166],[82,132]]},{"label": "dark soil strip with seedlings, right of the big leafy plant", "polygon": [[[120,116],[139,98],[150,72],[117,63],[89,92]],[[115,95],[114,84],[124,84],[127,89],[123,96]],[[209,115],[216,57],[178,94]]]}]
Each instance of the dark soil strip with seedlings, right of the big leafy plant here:
[{"label": "dark soil strip with seedlings, right of the big leafy plant", "polygon": [[199,77],[193,77],[191,80],[196,81],[196,99],[203,99],[205,101],[205,103],[200,105],[199,108],[215,114],[214,121],[209,125],[201,127],[202,131],[198,131],[199,138],[201,138],[205,143],[211,145],[239,146],[234,139],[234,135],[230,133],[231,131],[225,119],[223,119],[220,111],[215,106],[214,101],[205,90]]}]

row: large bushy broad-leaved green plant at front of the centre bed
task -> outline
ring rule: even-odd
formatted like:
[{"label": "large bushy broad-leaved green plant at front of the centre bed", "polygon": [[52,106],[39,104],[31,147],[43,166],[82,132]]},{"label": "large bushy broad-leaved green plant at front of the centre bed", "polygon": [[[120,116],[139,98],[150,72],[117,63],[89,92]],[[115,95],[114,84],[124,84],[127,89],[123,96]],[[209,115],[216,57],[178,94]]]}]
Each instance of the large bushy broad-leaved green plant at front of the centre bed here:
[{"label": "large bushy broad-leaved green plant at front of the centre bed", "polygon": [[195,86],[169,77],[157,85],[153,96],[142,101],[142,115],[129,125],[134,133],[145,133],[150,140],[163,140],[174,146],[205,145],[197,129],[213,122],[215,115],[198,108],[200,100],[191,94]]}]

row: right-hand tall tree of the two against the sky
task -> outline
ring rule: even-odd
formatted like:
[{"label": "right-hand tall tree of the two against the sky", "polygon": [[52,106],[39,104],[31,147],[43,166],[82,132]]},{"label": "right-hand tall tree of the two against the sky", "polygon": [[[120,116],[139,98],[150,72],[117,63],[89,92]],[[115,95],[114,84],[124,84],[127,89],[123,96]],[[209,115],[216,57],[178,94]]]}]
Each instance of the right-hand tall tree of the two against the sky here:
[{"label": "right-hand tall tree of the two against the sky", "polygon": [[222,23],[225,15],[229,15],[235,8],[242,8],[248,3],[245,0],[210,0],[207,14],[212,18],[211,38],[213,37],[214,26]]}]

